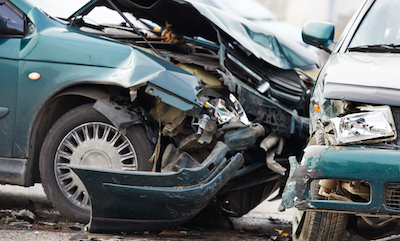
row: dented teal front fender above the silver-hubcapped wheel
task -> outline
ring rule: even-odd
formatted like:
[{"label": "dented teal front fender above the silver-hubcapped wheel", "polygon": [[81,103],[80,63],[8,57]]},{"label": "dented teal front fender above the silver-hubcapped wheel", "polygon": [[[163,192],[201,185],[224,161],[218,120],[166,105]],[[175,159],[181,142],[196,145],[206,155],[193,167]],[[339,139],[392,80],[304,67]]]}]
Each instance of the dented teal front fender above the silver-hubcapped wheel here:
[{"label": "dented teal front fender above the silver-hubcapped wheel", "polygon": [[[28,17],[35,29],[22,39],[19,53],[13,157],[27,157],[36,114],[47,100],[71,86],[96,84],[128,89],[151,83],[186,103],[181,105],[185,110],[200,105],[196,100],[197,78],[172,63],[127,44],[86,35],[36,8],[28,12]],[[32,72],[41,77],[29,79]]]}]

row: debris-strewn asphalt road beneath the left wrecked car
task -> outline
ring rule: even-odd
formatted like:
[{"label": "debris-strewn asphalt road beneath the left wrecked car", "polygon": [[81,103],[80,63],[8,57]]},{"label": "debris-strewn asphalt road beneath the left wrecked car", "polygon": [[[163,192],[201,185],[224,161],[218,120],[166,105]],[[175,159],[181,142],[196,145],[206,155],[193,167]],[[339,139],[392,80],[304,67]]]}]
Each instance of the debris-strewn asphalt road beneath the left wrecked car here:
[{"label": "debris-strewn asphalt road beneath the left wrecked car", "polygon": [[[279,213],[280,201],[265,201],[249,214],[227,221],[191,224],[165,230],[158,235],[94,234],[84,230],[84,224],[70,222],[52,208],[40,184],[24,188],[0,185],[1,240],[291,240],[291,211]],[[36,213],[29,224],[10,220],[10,213],[27,209]],[[15,225],[16,224],[16,225]]]}]

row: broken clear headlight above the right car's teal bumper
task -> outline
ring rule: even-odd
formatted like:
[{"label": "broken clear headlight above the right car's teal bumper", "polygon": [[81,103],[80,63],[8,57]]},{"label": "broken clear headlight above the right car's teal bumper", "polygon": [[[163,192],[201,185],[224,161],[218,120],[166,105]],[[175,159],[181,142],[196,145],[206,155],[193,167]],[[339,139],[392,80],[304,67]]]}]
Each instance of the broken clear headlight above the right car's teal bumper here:
[{"label": "broken clear headlight above the right car's teal bumper", "polygon": [[331,119],[334,145],[379,143],[397,138],[389,106],[361,106],[360,113]]}]

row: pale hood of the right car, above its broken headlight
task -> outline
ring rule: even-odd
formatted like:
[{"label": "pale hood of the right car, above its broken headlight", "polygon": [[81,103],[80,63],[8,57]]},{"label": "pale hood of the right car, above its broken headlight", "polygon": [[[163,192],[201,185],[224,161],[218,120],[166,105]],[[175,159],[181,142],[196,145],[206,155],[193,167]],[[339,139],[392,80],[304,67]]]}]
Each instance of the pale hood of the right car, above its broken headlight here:
[{"label": "pale hood of the right car, above its broken headlight", "polygon": [[324,98],[400,106],[400,55],[349,52],[327,64]]}]

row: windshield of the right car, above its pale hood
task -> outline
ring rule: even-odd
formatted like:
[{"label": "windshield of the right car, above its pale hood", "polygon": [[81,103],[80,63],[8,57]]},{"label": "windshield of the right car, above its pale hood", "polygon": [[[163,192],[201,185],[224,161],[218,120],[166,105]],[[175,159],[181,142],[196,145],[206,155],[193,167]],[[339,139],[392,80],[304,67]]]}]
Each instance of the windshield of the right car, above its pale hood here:
[{"label": "windshield of the right car, above its pale hood", "polygon": [[[400,1],[376,1],[361,22],[349,48],[377,48],[397,46],[400,43]],[[364,49],[365,49],[364,48]]]}]

